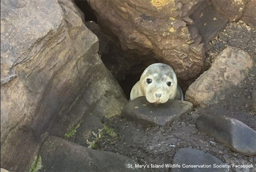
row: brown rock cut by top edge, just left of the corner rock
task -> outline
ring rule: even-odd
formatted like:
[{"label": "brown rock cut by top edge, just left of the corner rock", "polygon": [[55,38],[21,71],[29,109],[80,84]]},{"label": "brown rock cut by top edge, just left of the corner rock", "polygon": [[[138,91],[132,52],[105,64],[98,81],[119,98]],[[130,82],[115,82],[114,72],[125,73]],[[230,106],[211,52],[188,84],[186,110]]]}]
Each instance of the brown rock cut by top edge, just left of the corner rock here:
[{"label": "brown rock cut by top edge, just left of the corner rock", "polygon": [[230,22],[233,22],[243,15],[247,3],[250,0],[211,0],[214,8],[224,14]]}]

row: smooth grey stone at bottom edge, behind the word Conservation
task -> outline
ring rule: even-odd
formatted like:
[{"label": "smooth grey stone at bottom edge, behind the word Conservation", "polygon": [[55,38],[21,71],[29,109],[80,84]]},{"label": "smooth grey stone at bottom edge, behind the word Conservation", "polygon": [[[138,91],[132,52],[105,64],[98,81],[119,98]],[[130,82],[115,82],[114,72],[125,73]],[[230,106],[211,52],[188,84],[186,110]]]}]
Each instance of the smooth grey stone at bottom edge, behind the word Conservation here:
[{"label": "smooth grey stone at bottom edge, behind the word Conservation", "polygon": [[[218,158],[192,148],[179,149],[174,155],[172,164],[180,165],[180,168],[172,168],[171,172],[228,172],[226,164]],[[183,168],[183,164],[204,165],[204,167]]]}]

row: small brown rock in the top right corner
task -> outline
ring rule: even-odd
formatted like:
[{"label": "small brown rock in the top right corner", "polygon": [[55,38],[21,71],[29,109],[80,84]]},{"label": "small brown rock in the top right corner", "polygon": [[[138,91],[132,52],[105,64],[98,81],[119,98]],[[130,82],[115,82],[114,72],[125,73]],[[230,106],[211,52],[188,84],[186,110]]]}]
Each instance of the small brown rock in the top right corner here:
[{"label": "small brown rock in the top right corner", "polygon": [[241,20],[246,22],[249,25],[256,26],[256,0],[251,0],[245,9],[245,12],[243,13],[243,16],[241,17]]}]

